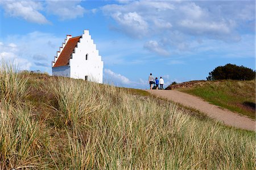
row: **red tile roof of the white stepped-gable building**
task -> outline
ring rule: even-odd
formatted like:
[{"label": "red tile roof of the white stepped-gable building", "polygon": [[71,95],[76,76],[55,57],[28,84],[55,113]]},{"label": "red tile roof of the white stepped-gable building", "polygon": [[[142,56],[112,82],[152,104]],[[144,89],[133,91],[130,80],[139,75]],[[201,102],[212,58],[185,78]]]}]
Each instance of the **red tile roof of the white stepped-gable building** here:
[{"label": "red tile roof of the white stepped-gable building", "polygon": [[65,45],[63,51],[61,51],[60,56],[58,57],[53,67],[68,65],[68,60],[70,59],[73,50],[75,49],[77,42],[79,42],[80,38],[81,36],[76,36],[68,40],[67,44]]}]

